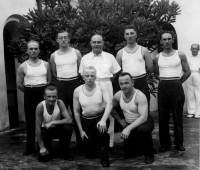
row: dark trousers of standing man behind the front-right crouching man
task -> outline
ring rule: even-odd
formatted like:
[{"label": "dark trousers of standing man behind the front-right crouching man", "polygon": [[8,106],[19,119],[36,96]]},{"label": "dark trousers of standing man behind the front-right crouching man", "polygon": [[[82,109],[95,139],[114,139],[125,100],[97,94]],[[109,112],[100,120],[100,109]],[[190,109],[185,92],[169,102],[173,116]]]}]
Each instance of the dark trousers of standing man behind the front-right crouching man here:
[{"label": "dark trousers of standing man behind the front-right crouching man", "polygon": [[149,93],[149,86],[147,84],[147,77],[142,77],[138,79],[134,79],[134,88],[140,90],[147,98],[148,102],[148,111],[150,111],[150,93]]}]

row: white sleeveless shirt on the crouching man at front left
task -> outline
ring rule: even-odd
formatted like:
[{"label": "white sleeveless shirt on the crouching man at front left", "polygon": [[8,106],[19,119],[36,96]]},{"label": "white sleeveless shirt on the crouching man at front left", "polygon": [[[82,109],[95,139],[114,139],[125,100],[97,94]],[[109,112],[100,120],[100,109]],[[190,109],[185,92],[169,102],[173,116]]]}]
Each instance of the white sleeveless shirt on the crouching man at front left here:
[{"label": "white sleeveless shirt on the crouching man at front left", "polygon": [[60,116],[61,116],[61,113],[60,113],[60,109],[58,107],[58,103],[57,101],[55,102],[55,105],[54,105],[54,110],[53,110],[53,113],[52,115],[50,115],[47,111],[47,107],[46,107],[46,103],[45,103],[45,100],[41,102],[42,105],[43,105],[43,122],[42,122],[42,127],[45,126],[45,124],[53,121],[53,120],[60,120]]}]

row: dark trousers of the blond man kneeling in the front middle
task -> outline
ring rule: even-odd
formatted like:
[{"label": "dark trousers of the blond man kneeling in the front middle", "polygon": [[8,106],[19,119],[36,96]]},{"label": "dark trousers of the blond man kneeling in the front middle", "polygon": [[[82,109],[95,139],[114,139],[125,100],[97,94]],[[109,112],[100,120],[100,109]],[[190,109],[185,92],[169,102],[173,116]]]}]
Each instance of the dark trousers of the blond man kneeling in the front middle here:
[{"label": "dark trousers of the blond man kneeling in the front middle", "polygon": [[[101,120],[102,116],[93,119],[82,118],[82,126],[87,138],[84,138],[84,152],[88,158],[97,158],[98,151],[101,148],[108,150],[110,135],[107,132],[100,133],[97,129],[97,123]],[[107,129],[109,127],[109,120],[106,121]]]}]

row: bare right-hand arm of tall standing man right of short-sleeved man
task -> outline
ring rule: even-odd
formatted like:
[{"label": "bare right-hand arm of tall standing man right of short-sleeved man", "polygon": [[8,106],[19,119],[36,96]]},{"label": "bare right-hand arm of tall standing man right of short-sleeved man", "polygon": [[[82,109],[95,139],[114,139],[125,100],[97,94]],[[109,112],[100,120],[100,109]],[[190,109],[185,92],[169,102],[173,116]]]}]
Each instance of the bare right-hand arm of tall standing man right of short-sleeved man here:
[{"label": "bare right-hand arm of tall standing man right of short-sleeved man", "polygon": [[146,66],[147,73],[152,73],[153,72],[153,61],[152,61],[149,50],[142,47],[142,55],[145,60],[145,66]]}]

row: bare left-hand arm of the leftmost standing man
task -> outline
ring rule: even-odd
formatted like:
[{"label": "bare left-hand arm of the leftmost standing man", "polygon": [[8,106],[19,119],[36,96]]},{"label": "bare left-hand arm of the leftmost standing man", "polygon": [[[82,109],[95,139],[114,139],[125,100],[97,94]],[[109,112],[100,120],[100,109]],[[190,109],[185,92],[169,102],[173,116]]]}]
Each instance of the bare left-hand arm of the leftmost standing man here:
[{"label": "bare left-hand arm of the leftmost standing man", "polygon": [[22,63],[17,70],[17,88],[24,92],[24,63]]}]

